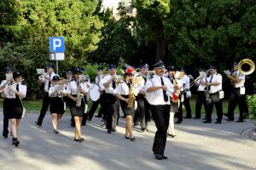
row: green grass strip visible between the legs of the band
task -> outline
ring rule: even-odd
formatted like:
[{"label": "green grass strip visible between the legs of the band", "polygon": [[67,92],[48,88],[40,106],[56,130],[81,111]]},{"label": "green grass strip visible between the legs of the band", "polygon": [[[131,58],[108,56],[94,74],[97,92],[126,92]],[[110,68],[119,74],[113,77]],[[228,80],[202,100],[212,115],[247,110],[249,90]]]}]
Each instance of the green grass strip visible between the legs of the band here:
[{"label": "green grass strip visible between the legs of the band", "polygon": [[[191,107],[192,115],[195,115],[195,99],[196,99],[196,96],[192,96],[192,98],[190,99],[190,107]],[[26,108],[26,111],[36,111],[36,112],[38,112],[38,111],[41,110],[42,99],[38,99],[38,100],[35,100],[35,101],[24,100],[23,104]],[[89,108],[90,108],[91,104],[92,104],[92,101],[89,100],[88,101]],[[229,101],[224,99],[224,101],[223,101],[223,113],[228,112],[228,105],[229,105]],[[3,108],[3,99],[0,99],[0,107]],[[98,111],[98,109],[97,109],[97,111]],[[69,112],[68,109],[67,109],[67,112]],[[214,107],[212,113],[215,113],[215,112],[216,112],[216,110],[215,110],[215,107]],[[184,106],[183,106],[183,113],[185,113]],[[201,108],[201,113],[205,114],[204,106],[202,106],[202,108]],[[236,114],[239,113],[238,107],[236,107],[235,113]]]}]

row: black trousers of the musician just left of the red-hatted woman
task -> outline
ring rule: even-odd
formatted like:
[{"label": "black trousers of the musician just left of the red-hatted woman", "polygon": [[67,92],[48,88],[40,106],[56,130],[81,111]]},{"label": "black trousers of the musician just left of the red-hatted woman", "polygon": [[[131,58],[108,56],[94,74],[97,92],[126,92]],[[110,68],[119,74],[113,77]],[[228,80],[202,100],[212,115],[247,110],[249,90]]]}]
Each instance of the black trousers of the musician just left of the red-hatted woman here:
[{"label": "black trousers of the musician just left of the red-hatted woman", "polygon": [[[118,116],[119,116],[119,109],[117,109],[117,105],[119,103],[119,100],[113,96],[113,94],[105,94],[104,97],[104,105],[106,108],[106,128],[108,130],[115,131],[116,124],[118,122]],[[119,107],[119,105],[118,105]],[[115,110],[115,111],[114,111]]]}]

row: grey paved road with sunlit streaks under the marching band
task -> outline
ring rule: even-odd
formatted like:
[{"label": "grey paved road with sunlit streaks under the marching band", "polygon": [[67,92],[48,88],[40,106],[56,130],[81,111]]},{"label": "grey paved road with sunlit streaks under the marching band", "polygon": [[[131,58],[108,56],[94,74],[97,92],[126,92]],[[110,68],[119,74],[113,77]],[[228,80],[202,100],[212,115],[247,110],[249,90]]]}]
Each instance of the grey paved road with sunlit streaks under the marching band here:
[{"label": "grey paved road with sunlit streaks under the marching band", "polygon": [[[136,142],[124,138],[125,120],[120,119],[117,133],[108,134],[99,118],[82,127],[84,143],[73,141],[69,116],[61,120],[60,134],[53,133],[49,114],[42,127],[34,122],[38,114],[28,114],[21,123],[20,145],[15,148],[11,138],[0,138],[1,170],[66,170],[66,169],[256,169],[256,141],[241,137],[253,122],[203,124],[184,120],[177,125],[177,138],[168,138],[165,161],[154,159],[151,151],[154,133],[141,133],[135,127]],[[3,130],[3,113],[0,113]],[[154,122],[149,129],[155,131]]]}]

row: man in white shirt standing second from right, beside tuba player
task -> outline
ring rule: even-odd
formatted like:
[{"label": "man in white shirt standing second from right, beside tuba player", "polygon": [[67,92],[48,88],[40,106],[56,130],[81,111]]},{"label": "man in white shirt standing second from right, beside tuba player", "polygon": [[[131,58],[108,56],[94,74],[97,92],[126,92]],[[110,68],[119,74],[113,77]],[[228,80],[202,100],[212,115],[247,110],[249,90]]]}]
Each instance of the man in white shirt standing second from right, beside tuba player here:
[{"label": "man in white shirt standing second from right, beside tuba player", "polygon": [[202,85],[207,86],[209,90],[211,102],[207,102],[207,120],[204,123],[212,122],[213,105],[216,107],[217,120],[216,124],[221,123],[223,117],[222,99],[219,99],[219,92],[222,90],[222,76],[217,73],[217,67],[210,65],[211,76],[207,77],[207,82],[202,82]]}]

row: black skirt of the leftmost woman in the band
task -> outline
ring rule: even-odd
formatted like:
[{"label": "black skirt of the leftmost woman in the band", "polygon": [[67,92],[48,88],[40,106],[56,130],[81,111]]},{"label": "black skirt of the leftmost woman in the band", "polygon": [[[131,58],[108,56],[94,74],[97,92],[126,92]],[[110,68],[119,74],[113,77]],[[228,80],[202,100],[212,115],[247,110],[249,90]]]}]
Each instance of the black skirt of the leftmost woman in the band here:
[{"label": "black skirt of the leftmost woman in the band", "polygon": [[3,105],[9,119],[21,119],[23,107],[20,99],[4,99]]}]

